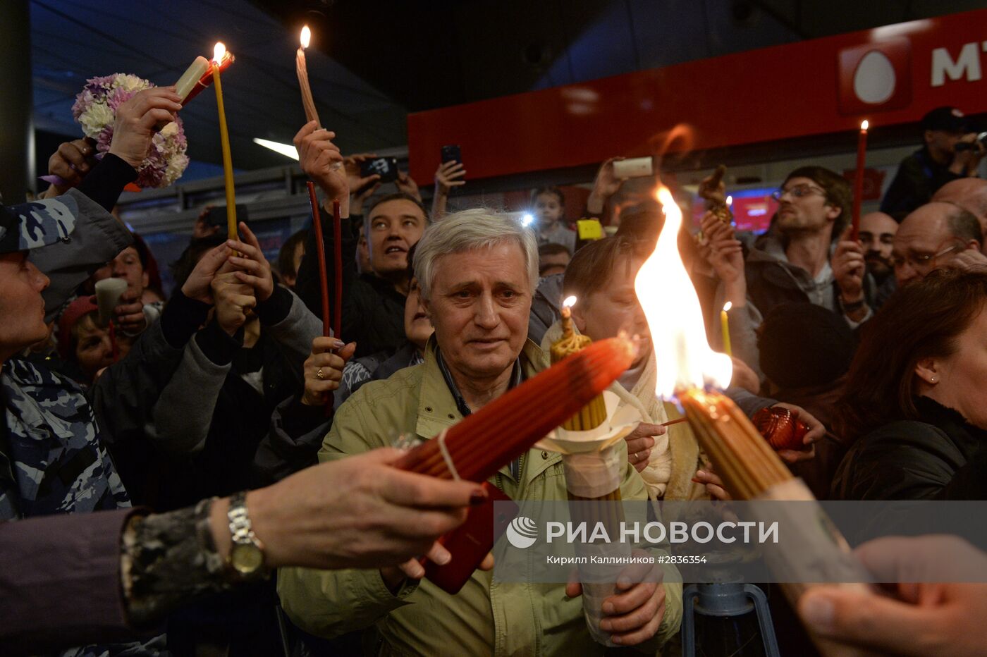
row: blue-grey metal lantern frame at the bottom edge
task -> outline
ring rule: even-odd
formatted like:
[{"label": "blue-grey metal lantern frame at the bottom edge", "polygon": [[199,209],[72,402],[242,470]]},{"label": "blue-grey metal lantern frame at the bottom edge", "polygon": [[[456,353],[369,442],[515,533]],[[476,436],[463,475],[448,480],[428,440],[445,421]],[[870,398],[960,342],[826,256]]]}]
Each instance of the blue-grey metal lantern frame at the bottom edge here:
[{"label": "blue-grey metal lantern frame at the bottom edge", "polygon": [[[775,638],[775,628],[771,624],[771,612],[768,610],[768,599],[764,591],[753,584],[692,584],[682,594],[682,655],[696,657],[696,618],[695,615],[720,619],[740,621],[740,617],[752,613],[757,618],[761,642],[752,645],[753,627],[749,628],[747,638],[739,635],[723,636],[721,643],[729,644],[730,651],[725,654],[733,655],[765,655],[766,657],[781,657],[778,652],[778,640]],[[749,622],[749,617],[748,617]],[[726,632],[724,632],[725,634]],[[732,641],[732,643],[730,643]],[[745,642],[746,641],[746,642]],[[712,654],[704,651],[704,654]]]}]

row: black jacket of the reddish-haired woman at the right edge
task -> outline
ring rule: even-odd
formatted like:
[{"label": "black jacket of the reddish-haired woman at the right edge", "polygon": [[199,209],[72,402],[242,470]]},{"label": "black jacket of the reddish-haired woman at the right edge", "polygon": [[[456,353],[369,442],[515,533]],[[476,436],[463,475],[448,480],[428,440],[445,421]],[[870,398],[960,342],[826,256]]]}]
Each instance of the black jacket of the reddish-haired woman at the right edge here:
[{"label": "black jacket of the reddish-haired woman at the right edge", "polygon": [[953,477],[987,445],[987,431],[952,408],[916,398],[918,420],[885,424],[859,439],[833,478],[833,499],[943,499]]}]

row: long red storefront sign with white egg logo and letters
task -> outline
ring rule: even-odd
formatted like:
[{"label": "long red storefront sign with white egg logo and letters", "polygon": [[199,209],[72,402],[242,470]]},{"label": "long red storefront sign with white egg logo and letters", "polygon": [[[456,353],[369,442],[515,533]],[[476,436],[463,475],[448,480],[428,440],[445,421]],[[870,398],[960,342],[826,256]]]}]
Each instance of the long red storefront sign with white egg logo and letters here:
[{"label": "long red storefront sign with white egg logo and letters", "polygon": [[445,144],[471,179],[653,153],[679,123],[699,150],[987,111],[987,10],[636,71],[408,117],[412,174]]}]

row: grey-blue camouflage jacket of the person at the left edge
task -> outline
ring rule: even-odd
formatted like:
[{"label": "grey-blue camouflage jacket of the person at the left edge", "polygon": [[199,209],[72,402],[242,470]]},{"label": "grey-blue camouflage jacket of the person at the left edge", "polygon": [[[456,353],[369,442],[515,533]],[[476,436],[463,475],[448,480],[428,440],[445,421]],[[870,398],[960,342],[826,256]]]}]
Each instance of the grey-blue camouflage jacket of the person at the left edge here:
[{"label": "grey-blue camouflage jacket of the person at the left edge", "polygon": [[78,385],[13,358],[3,364],[0,395],[0,520],[130,506]]}]

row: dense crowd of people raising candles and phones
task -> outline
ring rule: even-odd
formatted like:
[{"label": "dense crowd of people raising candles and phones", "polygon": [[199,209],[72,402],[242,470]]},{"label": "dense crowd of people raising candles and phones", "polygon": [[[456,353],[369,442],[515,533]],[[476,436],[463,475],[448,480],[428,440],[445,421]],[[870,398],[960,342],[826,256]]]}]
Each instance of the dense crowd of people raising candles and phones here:
[{"label": "dense crowd of people raising candles and phones", "polygon": [[[62,182],[2,207],[3,652],[602,652],[577,584],[497,582],[490,558],[457,595],[422,579],[420,559],[448,563],[437,540],[489,493],[392,464],[396,445],[441,434],[546,369],[562,300],[575,296],[579,333],[642,338],[610,387],[643,419],[620,448],[621,497],[727,499],[689,424],[664,426],[679,408],[655,395],[635,279],[660,206],[617,211],[614,158],[585,208],[613,227],[600,239],[580,239],[557,187],[532,192],[530,226],[488,208],[450,214],[461,163],[438,169],[426,208],[406,173],[381,190],[359,173],[371,156],[344,156],[311,121],[295,145],[322,192],[325,244],[296,233],[272,266],[247,223],[226,239],[203,214],[170,263],[166,299],[154,256],[113,210],[156,124],[181,107],[171,88],[137,94],[117,110],[105,157],[67,142],[48,163]],[[857,238],[849,184],[818,166],[788,175],[763,235],[711,207],[700,235],[679,236],[715,347],[731,304],[726,394],[748,416],[782,406],[807,425],[802,449],[779,455],[820,499],[987,493],[983,147],[956,110],[922,127],[925,145]],[[310,256],[320,246],[330,272],[336,247],[342,257],[342,334],[328,337]],[[110,279],[122,283],[104,308]],[[542,450],[490,483],[515,500],[567,498],[560,455]],[[889,581],[943,545],[987,564],[949,539],[889,541],[860,550]],[[652,568],[621,580],[600,629],[665,654],[682,584],[672,566]],[[981,649],[984,585],[893,593],[817,587],[797,612],[820,636],[878,652]]]}]

